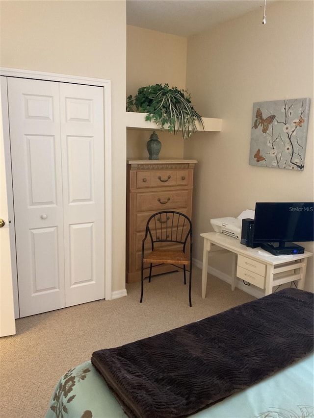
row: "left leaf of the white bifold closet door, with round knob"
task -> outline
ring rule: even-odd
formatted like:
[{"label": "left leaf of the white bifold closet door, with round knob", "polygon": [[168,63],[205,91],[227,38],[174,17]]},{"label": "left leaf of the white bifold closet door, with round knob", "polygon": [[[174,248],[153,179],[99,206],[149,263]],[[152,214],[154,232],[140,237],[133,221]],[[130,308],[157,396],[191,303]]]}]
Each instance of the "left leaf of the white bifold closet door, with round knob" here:
[{"label": "left leaf of the white bifold closet door, with round knob", "polygon": [[64,307],[58,84],[8,78],[20,315]]}]

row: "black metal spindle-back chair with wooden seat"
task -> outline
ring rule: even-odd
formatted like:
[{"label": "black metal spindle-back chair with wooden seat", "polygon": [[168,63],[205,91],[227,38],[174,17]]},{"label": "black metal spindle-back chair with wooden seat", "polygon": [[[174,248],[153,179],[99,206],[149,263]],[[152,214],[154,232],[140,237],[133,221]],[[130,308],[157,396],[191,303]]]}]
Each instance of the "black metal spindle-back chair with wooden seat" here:
[{"label": "black metal spindle-back chair with wooden seat", "polygon": [[[147,249],[146,240],[150,244],[149,249]],[[153,267],[172,264],[183,269],[184,284],[186,284],[186,266],[189,266],[188,296],[190,306],[192,306],[192,222],[186,215],[176,211],[161,211],[152,215],[147,221],[145,237],[142,242],[140,302],[143,300],[144,291],[144,263],[150,263],[149,282]]]}]

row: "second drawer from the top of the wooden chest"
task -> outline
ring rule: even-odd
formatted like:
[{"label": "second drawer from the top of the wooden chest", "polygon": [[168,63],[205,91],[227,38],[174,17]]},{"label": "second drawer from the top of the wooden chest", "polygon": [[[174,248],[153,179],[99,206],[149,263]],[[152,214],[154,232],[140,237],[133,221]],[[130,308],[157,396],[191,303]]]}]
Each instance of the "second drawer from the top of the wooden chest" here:
[{"label": "second drawer from the top of the wooden chest", "polygon": [[189,205],[190,196],[188,190],[138,193],[136,196],[136,212],[171,210],[184,208]]}]

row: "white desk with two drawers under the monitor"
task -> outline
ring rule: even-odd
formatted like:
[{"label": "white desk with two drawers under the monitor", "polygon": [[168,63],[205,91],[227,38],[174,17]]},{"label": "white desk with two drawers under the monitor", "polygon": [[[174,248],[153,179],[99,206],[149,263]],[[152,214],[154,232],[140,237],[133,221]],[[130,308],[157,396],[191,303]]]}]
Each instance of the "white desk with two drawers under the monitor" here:
[{"label": "white desk with two drawers under the monitor", "polygon": [[261,247],[250,248],[239,240],[218,232],[201,234],[204,238],[202,297],[206,295],[209,251],[212,246],[231,251],[234,254],[231,289],[235,290],[236,277],[272,293],[273,286],[299,280],[298,288],[304,288],[308,257],[313,254],[272,255]]}]

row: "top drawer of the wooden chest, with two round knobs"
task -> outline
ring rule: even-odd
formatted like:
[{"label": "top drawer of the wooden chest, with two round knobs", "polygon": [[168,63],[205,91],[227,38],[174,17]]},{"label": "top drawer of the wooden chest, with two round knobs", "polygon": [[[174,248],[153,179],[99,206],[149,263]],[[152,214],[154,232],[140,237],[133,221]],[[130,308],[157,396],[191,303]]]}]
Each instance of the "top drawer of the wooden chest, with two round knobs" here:
[{"label": "top drawer of the wooden chest, with two round knobs", "polygon": [[186,186],[188,184],[187,170],[142,171],[136,173],[136,188],[165,186]]}]

